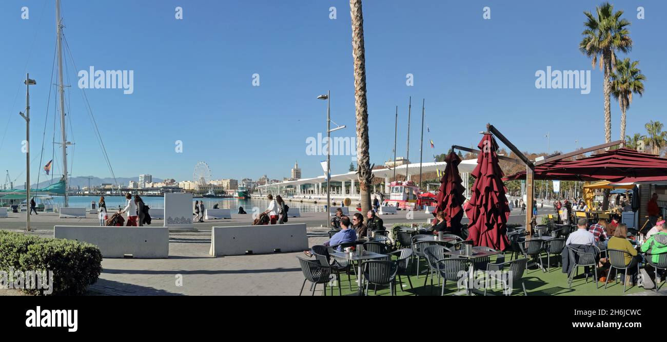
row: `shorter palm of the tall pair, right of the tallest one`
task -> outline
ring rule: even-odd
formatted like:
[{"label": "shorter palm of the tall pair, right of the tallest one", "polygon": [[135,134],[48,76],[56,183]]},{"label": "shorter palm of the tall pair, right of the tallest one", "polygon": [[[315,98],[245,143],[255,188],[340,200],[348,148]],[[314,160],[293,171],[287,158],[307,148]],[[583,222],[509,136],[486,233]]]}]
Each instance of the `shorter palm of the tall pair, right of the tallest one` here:
[{"label": "shorter palm of the tall pair, right of the tallest one", "polygon": [[612,73],[612,96],[618,100],[621,108],[621,140],[625,137],[626,111],[632,104],[632,94],[644,95],[646,76],[637,66],[639,61],[630,62],[630,58],[616,63],[616,71]]}]

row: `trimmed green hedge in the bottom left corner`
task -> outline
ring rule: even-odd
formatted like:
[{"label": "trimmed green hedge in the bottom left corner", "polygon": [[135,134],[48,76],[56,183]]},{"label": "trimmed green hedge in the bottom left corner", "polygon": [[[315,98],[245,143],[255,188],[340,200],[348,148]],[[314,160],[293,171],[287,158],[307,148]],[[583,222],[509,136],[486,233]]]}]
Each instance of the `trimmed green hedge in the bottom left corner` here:
[{"label": "trimmed green hedge in the bottom left corner", "polygon": [[[102,271],[102,254],[93,244],[40,238],[0,230],[0,271],[52,271],[51,295],[82,295]],[[39,289],[25,289],[37,295]]]}]

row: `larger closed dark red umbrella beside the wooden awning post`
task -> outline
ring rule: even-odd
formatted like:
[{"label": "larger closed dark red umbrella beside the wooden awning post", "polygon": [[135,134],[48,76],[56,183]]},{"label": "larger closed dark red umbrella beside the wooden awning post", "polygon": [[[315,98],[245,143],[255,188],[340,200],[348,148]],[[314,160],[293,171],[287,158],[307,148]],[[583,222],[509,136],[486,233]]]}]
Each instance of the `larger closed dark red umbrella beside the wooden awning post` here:
[{"label": "larger closed dark red umbrella beside the wooden awning post", "polygon": [[503,172],[498,165],[498,144],[487,133],[478,148],[482,153],[477,157],[477,167],[472,172],[475,184],[466,208],[470,220],[468,240],[472,240],[475,246],[506,250],[510,246],[506,235],[510,206],[505,197],[507,189],[502,182]]}]

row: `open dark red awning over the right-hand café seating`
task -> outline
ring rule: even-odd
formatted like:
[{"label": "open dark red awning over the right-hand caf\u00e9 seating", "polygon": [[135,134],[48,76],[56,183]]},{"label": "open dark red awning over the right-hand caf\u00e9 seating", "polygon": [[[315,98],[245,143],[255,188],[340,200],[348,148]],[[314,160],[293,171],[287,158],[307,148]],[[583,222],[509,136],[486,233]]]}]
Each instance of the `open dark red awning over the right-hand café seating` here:
[{"label": "open dark red awning over the right-hand caf\u00e9 seating", "polygon": [[[609,180],[615,183],[667,180],[667,159],[620,148],[578,160],[556,160],[535,167],[539,180]],[[522,171],[504,180],[526,179]]]}]

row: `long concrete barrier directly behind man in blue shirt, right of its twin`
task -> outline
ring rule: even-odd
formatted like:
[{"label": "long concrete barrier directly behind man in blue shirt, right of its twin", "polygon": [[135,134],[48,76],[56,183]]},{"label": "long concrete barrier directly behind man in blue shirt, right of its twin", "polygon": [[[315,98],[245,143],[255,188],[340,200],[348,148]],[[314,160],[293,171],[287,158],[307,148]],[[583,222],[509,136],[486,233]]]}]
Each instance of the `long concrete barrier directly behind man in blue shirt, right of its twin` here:
[{"label": "long concrete barrier directly behind man in blue shirt, right of its twin", "polygon": [[267,224],[263,226],[228,226],[211,229],[213,257],[223,255],[299,252],[308,249],[305,224]]}]

